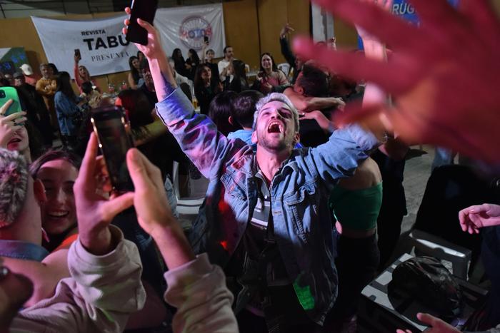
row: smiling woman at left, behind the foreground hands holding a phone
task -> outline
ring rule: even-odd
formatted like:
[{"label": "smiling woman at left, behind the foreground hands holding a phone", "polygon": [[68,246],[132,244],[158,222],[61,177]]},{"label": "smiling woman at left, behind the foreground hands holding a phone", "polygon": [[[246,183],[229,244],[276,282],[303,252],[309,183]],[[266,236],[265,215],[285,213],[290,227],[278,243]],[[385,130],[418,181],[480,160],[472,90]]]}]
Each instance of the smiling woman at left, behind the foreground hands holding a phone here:
[{"label": "smiling woman at left, behind the foreground hands holding a phone", "polygon": [[78,236],[73,185],[81,159],[68,150],[49,150],[34,160],[29,173],[44,184],[46,200],[41,203],[41,225],[48,238],[42,245],[52,252],[69,247]]}]

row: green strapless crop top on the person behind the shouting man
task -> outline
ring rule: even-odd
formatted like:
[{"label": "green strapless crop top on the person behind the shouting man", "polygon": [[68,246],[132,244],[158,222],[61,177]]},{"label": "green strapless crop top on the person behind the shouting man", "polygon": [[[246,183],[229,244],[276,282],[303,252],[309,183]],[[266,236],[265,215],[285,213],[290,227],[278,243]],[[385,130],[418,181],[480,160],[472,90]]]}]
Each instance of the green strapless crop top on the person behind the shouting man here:
[{"label": "green strapless crop top on the person behind the shouting man", "polygon": [[352,230],[376,227],[381,205],[382,183],[361,190],[346,190],[336,186],[329,198],[329,207],[336,220]]}]

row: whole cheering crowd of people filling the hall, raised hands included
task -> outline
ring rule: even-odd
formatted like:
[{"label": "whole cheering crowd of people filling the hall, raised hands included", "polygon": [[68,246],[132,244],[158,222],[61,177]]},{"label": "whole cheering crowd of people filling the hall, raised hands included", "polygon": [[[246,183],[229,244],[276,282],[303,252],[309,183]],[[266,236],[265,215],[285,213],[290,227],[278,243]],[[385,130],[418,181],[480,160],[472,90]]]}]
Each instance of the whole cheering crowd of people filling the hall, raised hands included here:
[{"label": "whole cheering crowd of people filling the hall, raised hands included", "polygon": [[[356,25],[363,53],[291,47],[286,24],[276,43],[293,71],[262,53],[250,82],[231,46],[218,63],[206,46],[168,57],[139,19],[148,43],[117,96],[79,54],[79,93],[50,63],[40,77],[29,65],[2,76],[25,111],[0,108],[0,332],[355,332],[361,290],[395,255],[416,143],[466,155],[484,188],[439,224],[482,237],[491,290],[476,331],[500,332],[500,20],[487,0],[413,0],[420,26],[391,15],[391,1],[316,2]],[[136,146],[131,192],[112,191],[89,120],[111,105]],[[209,181],[189,230],[174,161]]]}]

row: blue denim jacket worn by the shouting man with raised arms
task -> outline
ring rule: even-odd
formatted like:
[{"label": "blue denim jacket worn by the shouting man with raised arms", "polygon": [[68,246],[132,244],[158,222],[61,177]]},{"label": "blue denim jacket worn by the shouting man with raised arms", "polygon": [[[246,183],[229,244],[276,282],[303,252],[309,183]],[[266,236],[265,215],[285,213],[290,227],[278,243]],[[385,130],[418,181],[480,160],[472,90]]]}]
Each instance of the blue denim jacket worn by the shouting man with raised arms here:
[{"label": "blue denim jacket worn by the shouting man with raised arms", "polygon": [[[191,245],[225,267],[254,211],[256,155],[241,140],[228,140],[216,125],[194,113],[176,89],[156,110],[184,153],[209,179],[204,204],[193,225]],[[295,149],[271,181],[274,234],[286,272],[302,307],[322,324],[336,299],[336,242],[328,195],[341,177],[352,175],[378,140],[356,125],[332,133],[316,148]]]}]

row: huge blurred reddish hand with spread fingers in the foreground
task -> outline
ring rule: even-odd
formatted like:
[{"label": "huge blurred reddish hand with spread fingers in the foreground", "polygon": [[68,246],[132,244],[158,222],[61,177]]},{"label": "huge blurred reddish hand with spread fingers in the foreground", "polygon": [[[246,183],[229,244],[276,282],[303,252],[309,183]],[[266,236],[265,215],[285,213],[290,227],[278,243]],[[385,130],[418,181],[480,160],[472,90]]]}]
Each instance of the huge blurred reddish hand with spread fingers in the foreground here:
[{"label": "huge blurred reddish hand with spread fingers in the foreground", "polygon": [[314,0],[336,18],[359,26],[394,52],[389,61],[296,39],[295,52],[331,71],[376,83],[394,105],[351,106],[344,122],[385,113],[408,143],[434,143],[489,162],[500,161],[500,21],[487,0],[413,0],[415,26],[368,0]]}]

